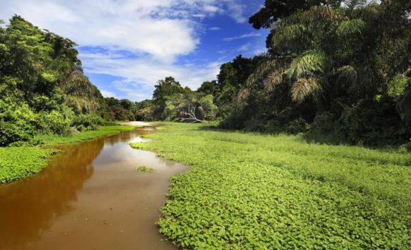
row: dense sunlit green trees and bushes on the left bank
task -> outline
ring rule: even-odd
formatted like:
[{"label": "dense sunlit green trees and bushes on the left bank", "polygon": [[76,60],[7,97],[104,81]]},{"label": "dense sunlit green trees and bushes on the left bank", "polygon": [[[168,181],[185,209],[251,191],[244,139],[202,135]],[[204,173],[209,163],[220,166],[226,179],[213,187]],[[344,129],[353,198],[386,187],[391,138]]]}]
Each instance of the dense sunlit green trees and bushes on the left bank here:
[{"label": "dense sunlit green trees and bushes on the left bank", "polygon": [[134,120],[128,100],[104,99],[83,74],[75,42],[20,16],[0,26],[0,147],[33,145],[37,134],[95,130]]}]

